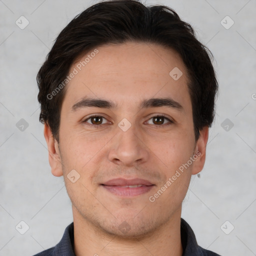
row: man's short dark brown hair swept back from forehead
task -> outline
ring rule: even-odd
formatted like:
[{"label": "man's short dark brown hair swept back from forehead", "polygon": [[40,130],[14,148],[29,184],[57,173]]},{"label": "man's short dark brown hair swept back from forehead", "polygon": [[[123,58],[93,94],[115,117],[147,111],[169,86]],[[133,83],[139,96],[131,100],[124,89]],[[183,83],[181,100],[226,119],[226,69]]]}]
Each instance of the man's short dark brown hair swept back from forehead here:
[{"label": "man's short dark brown hair swept back from forehead", "polygon": [[96,3],[74,17],[57,36],[37,73],[39,120],[49,125],[58,141],[60,109],[65,87],[48,95],[66,78],[73,61],[82,53],[107,43],[152,42],[176,50],[189,75],[195,140],[214,118],[217,80],[211,52],[200,43],[193,28],[163,5],[145,6],[137,0]]}]

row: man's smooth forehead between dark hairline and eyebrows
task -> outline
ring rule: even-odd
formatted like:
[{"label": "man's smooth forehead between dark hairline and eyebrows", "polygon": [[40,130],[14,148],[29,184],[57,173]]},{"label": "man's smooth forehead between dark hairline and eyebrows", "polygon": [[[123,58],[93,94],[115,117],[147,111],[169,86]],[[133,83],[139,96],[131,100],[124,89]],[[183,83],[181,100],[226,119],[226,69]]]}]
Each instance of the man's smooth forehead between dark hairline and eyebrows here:
[{"label": "man's smooth forehead between dark hairline and eyebrows", "polygon": [[112,99],[117,106],[167,95],[176,101],[190,101],[182,59],[175,50],[158,44],[126,42],[96,47],[76,59],[69,73],[74,70],[76,74],[66,85],[69,104],[84,96]]}]

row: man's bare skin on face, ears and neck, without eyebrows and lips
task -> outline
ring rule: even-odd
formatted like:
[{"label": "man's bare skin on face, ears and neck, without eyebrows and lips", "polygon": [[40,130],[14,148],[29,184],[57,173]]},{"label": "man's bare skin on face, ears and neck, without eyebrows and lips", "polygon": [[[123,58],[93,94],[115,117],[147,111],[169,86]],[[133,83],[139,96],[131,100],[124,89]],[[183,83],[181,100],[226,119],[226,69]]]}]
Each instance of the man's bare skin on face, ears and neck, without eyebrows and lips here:
[{"label": "man's bare skin on face, ears and neck, without eyebrows and lips", "polygon": [[[207,126],[197,141],[194,138],[185,65],[174,50],[152,43],[126,42],[97,49],[66,85],[59,143],[44,126],[51,172],[63,175],[72,202],[75,254],[181,256],[181,204],[191,175],[203,167],[208,139]],[[77,59],[70,72],[85,57]],[[169,75],[174,67],[183,73],[176,81]],[[72,111],[85,96],[111,100],[116,108]],[[152,97],[171,97],[182,110],[139,107],[141,100]],[[105,119],[93,122],[87,119],[92,114]],[[155,114],[165,114],[173,122],[155,120]],[[127,131],[118,126],[123,118],[131,124]],[[82,122],[86,119],[87,125]],[[198,151],[197,159],[150,202],[149,196]],[[67,178],[72,169],[80,175],[74,183]],[[116,177],[144,178],[155,186],[144,194],[122,197],[100,185]],[[125,233],[121,223],[128,226]]]}]

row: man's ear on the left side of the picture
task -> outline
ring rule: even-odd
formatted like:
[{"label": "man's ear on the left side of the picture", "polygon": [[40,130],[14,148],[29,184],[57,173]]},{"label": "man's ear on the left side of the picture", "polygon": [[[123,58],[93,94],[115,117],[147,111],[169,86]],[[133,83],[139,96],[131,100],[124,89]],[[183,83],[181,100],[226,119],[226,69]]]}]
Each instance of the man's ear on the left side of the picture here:
[{"label": "man's ear on the left side of the picture", "polygon": [[48,146],[48,157],[49,164],[51,167],[51,173],[54,176],[62,176],[62,165],[61,165],[61,157],[58,149],[58,142],[53,137],[50,127],[44,123],[43,134]]}]

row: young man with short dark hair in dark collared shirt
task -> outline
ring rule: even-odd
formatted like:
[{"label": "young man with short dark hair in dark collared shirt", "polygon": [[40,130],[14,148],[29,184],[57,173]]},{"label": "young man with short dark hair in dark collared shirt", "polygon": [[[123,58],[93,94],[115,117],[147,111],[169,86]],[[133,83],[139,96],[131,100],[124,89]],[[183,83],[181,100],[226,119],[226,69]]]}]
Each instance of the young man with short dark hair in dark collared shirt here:
[{"label": "young man with short dark hair in dark collared shirt", "polygon": [[210,52],[166,6],[97,3],[37,74],[51,172],[73,222],[42,255],[217,255],[181,218],[205,161],[217,81]]}]

